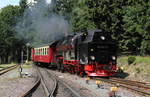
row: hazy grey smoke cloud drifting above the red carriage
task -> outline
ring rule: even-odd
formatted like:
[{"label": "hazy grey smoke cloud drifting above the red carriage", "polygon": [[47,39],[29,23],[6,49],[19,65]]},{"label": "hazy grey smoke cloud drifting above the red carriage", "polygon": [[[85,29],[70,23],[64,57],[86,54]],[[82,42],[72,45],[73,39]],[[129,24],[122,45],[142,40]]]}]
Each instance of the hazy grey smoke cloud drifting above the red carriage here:
[{"label": "hazy grey smoke cloud drifting above the red carriage", "polygon": [[17,36],[33,46],[58,40],[70,31],[63,16],[52,12],[51,0],[31,3],[16,26]]}]

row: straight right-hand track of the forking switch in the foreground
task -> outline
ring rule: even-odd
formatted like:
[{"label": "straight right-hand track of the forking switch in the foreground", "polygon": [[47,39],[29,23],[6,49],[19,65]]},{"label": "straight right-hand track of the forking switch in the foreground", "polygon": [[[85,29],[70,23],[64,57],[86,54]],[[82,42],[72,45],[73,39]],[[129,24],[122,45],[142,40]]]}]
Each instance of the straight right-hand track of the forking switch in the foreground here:
[{"label": "straight right-hand track of the forking switch in the foreground", "polygon": [[45,68],[38,68],[41,83],[47,97],[82,97],[67,83]]}]

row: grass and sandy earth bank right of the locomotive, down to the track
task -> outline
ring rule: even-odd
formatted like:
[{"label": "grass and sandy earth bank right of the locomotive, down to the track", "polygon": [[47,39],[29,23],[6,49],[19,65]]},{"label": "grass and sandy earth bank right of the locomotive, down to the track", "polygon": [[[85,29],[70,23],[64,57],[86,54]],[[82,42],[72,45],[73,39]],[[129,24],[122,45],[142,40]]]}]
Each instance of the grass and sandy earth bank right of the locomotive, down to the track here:
[{"label": "grass and sandy earth bank right of the locomotive, down to the track", "polygon": [[118,58],[118,66],[123,69],[124,73],[119,76],[129,80],[136,80],[150,83],[150,57],[134,56],[135,61],[128,64],[129,56],[121,56]]}]

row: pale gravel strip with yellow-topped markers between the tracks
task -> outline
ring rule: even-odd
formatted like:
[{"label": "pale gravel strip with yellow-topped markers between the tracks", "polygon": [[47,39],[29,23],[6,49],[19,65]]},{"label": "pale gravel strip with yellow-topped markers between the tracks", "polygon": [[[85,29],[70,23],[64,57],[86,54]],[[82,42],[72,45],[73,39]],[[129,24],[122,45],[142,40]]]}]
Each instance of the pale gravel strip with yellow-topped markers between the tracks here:
[{"label": "pale gravel strip with yellow-topped markers between the tracks", "polygon": [[[70,73],[61,73],[53,70],[50,71],[59,76],[59,78],[61,78],[62,80],[65,80],[70,85],[76,84],[87,88],[88,90],[93,92],[94,95],[97,95],[97,97],[109,97],[110,88],[113,86],[108,83],[102,82],[101,88],[98,88],[94,80],[90,80],[89,84],[87,84],[85,78],[81,78],[77,75],[72,75]],[[116,94],[117,97],[144,97],[124,88],[118,88]]]}]

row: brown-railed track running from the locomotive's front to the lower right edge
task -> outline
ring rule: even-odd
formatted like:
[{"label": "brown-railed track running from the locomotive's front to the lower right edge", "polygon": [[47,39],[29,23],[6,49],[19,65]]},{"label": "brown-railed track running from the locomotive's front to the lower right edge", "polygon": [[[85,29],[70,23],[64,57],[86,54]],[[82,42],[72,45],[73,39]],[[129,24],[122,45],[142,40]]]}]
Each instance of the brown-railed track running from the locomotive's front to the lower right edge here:
[{"label": "brown-railed track running from the locomotive's front to the lower right edge", "polygon": [[120,78],[110,78],[110,79],[98,78],[97,80],[101,80],[110,84],[114,84],[118,87],[124,87],[126,89],[137,92],[140,95],[150,97],[150,84],[149,83],[124,80]]}]

